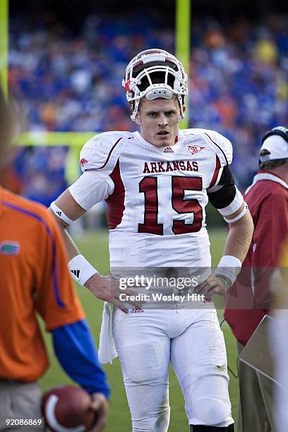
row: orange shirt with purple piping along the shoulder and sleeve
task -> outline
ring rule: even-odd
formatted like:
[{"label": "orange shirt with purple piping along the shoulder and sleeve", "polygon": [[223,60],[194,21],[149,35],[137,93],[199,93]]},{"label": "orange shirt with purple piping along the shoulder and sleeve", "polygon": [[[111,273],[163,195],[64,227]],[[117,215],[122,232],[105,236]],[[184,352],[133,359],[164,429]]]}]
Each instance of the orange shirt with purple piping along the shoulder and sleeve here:
[{"label": "orange shirt with purple piping along the shoulder and sleeve", "polygon": [[0,378],[31,382],[46,371],[37,313],[47,330],[84,318],[53,217],[0,187]]}]

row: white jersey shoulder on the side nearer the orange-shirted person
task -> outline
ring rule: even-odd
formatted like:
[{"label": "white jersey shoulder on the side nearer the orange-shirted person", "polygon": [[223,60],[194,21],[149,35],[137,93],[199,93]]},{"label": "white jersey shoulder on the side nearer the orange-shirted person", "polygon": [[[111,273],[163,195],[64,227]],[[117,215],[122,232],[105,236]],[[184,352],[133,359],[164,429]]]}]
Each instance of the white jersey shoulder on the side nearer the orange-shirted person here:
[{"label": "white jersey shoulder on the side nearer the orange-shirted person", "polygon": [[111,172],[129,136],[131,133],[128,132],[104,132],[93,136],[80,152],[82,171],[102,169]]}]

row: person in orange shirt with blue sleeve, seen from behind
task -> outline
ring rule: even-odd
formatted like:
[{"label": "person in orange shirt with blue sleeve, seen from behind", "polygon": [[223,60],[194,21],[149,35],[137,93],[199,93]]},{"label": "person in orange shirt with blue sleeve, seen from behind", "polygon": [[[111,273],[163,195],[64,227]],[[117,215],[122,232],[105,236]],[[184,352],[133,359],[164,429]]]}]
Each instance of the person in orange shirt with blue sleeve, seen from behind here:
[{"label": "person in orange shirt with blue sleeve, seen from behind", "polygon": [[[0,94],[0,159],[10,126],[11,110]],[[92,408],[100,410],[91,431],[104,427],[107,379],[67,263],[59,228],[47,209],[0,186],[0,431],[6,430],[6,419],[41,417],[37,380],[49,361],[37,314],[52,333],[61,366],[92,395]]]}]

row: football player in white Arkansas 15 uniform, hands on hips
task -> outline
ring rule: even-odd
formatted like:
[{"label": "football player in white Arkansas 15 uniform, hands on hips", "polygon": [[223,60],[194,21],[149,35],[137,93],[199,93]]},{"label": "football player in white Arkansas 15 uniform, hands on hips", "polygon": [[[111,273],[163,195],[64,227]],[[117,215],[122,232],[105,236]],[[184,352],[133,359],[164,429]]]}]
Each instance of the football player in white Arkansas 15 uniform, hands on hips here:
[{"label": "football player in white Arkansas 15 uniform, hands on hips", "polygon": [[[234,282],[253,223],[229,169],[229,140],[207,129],[179,129],[186,80],[180,61],[162,49],[133,58],[123,86],[140,132],[107,132],[89,140],[80,153],[82,176],[51,205],[73,277],[117,306],[104,308],[100,358],[112,361],[119,355],[134,432],[167,431],[170,361],[191,431],[234,430],[224,338],[215,306],[206,300]],[[112,276],[99,275],[64,231],[103,199]],[[198,287],[205,296],[201,306],[180,308],[174,301],[170,308],[149,308],[133,299],[135,309],[121,301],[113,277],[121,268],[210,268],[208,200],[229,223],[229,234],[215,275]],[[132,294],[126,290],[128,301]]]}]

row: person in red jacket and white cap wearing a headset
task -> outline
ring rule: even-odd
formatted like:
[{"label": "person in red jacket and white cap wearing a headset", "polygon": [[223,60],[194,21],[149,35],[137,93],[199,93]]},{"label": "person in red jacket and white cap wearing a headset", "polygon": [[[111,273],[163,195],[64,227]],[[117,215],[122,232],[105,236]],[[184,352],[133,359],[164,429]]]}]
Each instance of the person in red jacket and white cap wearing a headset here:
[{"label": "person in red jacket and white cap wearing a headset", "polygon": [[[238,342],[246,345],[269,312],[270,276],[288,235],[288,129],[273,128],[260,148],[260,171],[244,199],[253,217],[254,234],[243,269],[227,295],[224,318]],[[272,381],[239,362],[239,432],[273,428]]]}]

